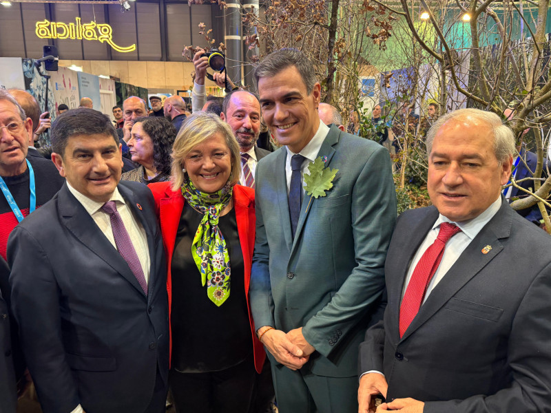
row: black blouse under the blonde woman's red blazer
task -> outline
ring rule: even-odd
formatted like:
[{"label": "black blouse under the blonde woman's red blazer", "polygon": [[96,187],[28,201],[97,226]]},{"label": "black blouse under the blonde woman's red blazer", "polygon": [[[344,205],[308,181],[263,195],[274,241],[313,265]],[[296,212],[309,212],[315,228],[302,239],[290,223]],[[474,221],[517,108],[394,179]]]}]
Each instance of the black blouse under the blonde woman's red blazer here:
[{"label": "black blouse under the blonde woman's red blazer", "polygon": [[178,372],[224,370],[245,360],[252,351],[236,212],[232,209],[218,220],[231,264],[230,295],[220,307],[207,297],[207,285],[201,285],[191,256],[202,216],[185,204],[172,255],[172,368]]}]

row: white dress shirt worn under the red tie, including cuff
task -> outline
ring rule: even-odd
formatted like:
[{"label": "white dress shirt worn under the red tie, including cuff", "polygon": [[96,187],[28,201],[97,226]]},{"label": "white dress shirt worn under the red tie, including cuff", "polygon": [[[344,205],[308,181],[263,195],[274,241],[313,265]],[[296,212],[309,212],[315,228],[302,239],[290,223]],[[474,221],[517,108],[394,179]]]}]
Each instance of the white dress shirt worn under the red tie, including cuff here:
[{"label": "white dress shirt worn under the red tie, including cuff", "polygon": [[[430,231],[428,231],[425,240],[422,242],[421,246],[417,248],[417,253],[415,253],[413,260],[411,260],[410,262],[408,273],[406,275],[406,282],[404,282],[404,289],[402,290],[402,299],[404,298],[404,294],[406,293],[406,289],[410,282],[411,276],[413,275],[413,271],[417,266],[417,263],[419,262],[419,260],[421,260],[421,257],[428,249],[428,247],[434,244],[436,237],[438,236],[438,233],[440,231],[440,224],[442,222],[450,222],[452,224],[456,224],[461,229],[461,232],[457,233],[456,235],[451,237],[448,242],[446,242],[446,248],[444,249],[442,260],[435,272],[435,275],[433,275],[433,278],[430,279],[430,283],[428,284],[428,288],[426,289],[426,294],[421,305],[424,304],[427,297],[433,291],[435,286],[437,286],[438,283],[441,282],[446,273],[448,273],[449,269],[453,266],[453,264],[455,264],[457,258],[459,258],[459,255],[461,255],[461,253],[465,251],[470,242],[475,239],[481,229],[483,229],[484,226],[486,226],[486,224],[488,224],[488,222],[490,222],[490,220],[494,217],[497,211],[499,211],[499,208],[501,208],[501,193],[499,194],[497,200],[490,204],[490,207],[488,207],[476,218],[472,218],[472,220],[464,222],[452,222],[448,220],[448,218],[446,218],[444,215],[439,214],[438,219],[436,220]],[[382,372],[377,370],[369,370],[368,372],[364,372],[360,376],[360,379],[362,379],[362,376],[367,373],[382,374]]]}]

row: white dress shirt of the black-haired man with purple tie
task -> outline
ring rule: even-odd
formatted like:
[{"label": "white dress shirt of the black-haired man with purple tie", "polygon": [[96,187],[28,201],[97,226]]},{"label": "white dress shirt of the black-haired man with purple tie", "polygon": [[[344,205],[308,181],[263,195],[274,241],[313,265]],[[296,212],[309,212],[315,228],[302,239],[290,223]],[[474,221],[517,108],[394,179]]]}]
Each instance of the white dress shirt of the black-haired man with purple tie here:
[{"label": "white dress shirt of the black-haired man with purple tie", "polygon": [[[83,195],[82,193],[76,191],[76,189],[71,187],[68,181],[67,188],[74,195],[74,198],[76,198],[82,204],[87,213],[89,213],[92,217],[92,220],[94,220],[99,229],[101,229],[103,235],[107,237],[107,240],[109,240],[112,246],[114,246],[114,248],[116,249],[115,238],[113,237],[113,230],[111,228],[110,215],[101,210],[101,207],[103,207],[103,204],[105,202],[96,202],[91,200],[87,196]],[[130,209],[127,207],[125,199],[123,198],[121,193],[118,192],[117,188],[115,188],[113,195],[111,195],[110,201],[115,201],[116,203],[116,210],[118,211],[119,215],[121,215],[123,224],[125,224],[125,228],[128,232],[130,240],[132,240],[132,244],[134,244],[134,249],[136,250],[136,254],[138,255],[138,259],[140,260],[143,275],[145,275],[145,282],[147,283],[149,282],[149,247],[147,246],[147,235],[145,235],[145,229],[143,229],[141,223],[138,222],[136,218],[134,218],[134,215],[132,215],[132,211],[130,211]],[[83,412],[84,410],[79,404],[70,413]]]}]

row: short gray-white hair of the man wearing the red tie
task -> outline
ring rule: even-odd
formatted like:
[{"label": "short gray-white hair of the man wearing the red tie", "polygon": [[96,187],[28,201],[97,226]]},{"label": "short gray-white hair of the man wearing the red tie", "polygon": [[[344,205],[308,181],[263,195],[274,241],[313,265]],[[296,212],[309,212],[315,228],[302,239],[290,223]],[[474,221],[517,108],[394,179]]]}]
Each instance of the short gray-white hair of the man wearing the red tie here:
[{"label": "short gray-white hair of the man wearing the red tie", "polygon": [[440,128],[450,120],[466,118],[467,116],[472,116],[472,118],[481,120],[492,129],[495,157],[500,164],[506,162],[514,153],[514,134],[512,130],[507,125],[503,125],[503,121],[497,114],[472,108],[457,109],[438,118],[434,125],[428,129],[426,134],[427,156],[430,156],[430,152],[433,150],[433,142]]}]

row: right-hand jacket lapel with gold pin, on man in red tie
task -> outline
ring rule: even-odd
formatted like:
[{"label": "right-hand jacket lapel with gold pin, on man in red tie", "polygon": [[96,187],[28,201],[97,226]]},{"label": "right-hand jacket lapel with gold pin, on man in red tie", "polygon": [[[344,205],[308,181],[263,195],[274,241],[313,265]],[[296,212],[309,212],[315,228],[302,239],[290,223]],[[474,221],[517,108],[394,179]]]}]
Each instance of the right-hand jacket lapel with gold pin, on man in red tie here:
[{"label": "right-hand jacket lapel with gold pin, on man in red tie", "polygon": [[[482,268],[501,253],[503,244],[499,240],[510,235],[512,213],[515,212],[512,211],[502,196],[499,211],[481,229],[475,239],[457,258],[457,261],[444,278],[435,286],[404,333],[402,340],[407,339],[417,328],[422,326],[430,317],[433,317],[472,277],[475,277]],[[483,253],[482,248],[487,245],[490,245],[492,249],[488,253]]]}]

